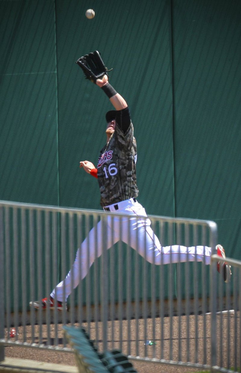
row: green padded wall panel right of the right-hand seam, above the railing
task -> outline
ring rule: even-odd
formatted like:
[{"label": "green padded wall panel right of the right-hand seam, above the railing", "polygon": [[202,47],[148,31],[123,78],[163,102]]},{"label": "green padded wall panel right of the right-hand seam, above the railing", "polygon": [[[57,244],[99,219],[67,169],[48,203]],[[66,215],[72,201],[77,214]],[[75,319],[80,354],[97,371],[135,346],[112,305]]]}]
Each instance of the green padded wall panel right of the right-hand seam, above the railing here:
[{"label": "green padded wall panel right of the right-hand seam, above the railing", "polygon": [[240,259],[241,2],[174,4],[175,214],[214,220]]}]

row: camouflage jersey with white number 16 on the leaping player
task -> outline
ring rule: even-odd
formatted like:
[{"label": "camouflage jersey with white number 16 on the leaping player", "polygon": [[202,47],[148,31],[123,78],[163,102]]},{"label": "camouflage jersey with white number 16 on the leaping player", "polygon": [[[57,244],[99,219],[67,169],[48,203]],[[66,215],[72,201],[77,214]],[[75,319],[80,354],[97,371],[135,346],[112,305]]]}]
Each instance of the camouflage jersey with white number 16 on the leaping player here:
[{"label": "camouflage jersey with white number 16 on the leaping player", "polygon": [[[125,109],[124,109],[125,110]],[[129,109],[128,109],[129,113]],[[108,206],[138,196],[136,185],[136,139],[133,125],[123,132],[116,118],[115,132],[101,149],[98,182],[101,206]],[[130,120],[130,119],[129,119]]]}]

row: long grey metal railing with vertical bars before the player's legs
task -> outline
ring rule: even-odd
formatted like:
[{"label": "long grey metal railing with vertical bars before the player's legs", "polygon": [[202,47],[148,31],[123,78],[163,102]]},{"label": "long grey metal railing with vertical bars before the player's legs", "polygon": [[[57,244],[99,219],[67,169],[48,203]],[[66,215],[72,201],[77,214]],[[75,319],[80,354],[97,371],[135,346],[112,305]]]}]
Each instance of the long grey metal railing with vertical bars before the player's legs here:
[{"label": "long grey metal railing with vertical bars before the player's legs", "polygon": [[[220,356],[219,367],[237,366],[241,355],[240,282],[223,283],[216,263],[206,265],[207,257],[198,262],[197,252],[193,262],[181,263],[181,255],[175,260],[171,255],[170,261],[175,263],[164,264],[154,254],[150,259],[145,245],[142,256],[138,248],[133,250],[130,232],[126,244],[115,242],[114,233],[106,233],[106,219],[112,232],[116,215],[0,201],[1,360],[4,345],[71,352],[61,328],[70,324],[83,326],[98,350],[117,348],[130,359],[207,369],[216,367]],[[129,221],[130,216],[119,215],[118,219],[121,237],[126,229],[123,221]],[[217,244],[214,222],[158,216],[149,219],[165,247],[205,245],[214,250]],[[101,253],[100,232],[95,230],[100,221]],[[90,242],[92,229],[94,241]],[[68,297],[67,310],[30,307],[31,301],[41,302],[65,278],[84,239],[90,270],[85,275],[85,267],[80,265],[79,285]],[[233,277],[240,279],[237,273],[235,270]],[[73,285],[74,279],[71,281]],[[238,299],[235,305],[234,298]],[[223,311],[233,308],[231,320],[232,316],[228,313],[226,317]],[[227,319],[228,332],[220,330],[220,317],[222,325]],[[232,339],[229,330],[233,322],[238,346],[235,354],[233,348],[226,350],[219,344],[224,334],[228,341]]]}]

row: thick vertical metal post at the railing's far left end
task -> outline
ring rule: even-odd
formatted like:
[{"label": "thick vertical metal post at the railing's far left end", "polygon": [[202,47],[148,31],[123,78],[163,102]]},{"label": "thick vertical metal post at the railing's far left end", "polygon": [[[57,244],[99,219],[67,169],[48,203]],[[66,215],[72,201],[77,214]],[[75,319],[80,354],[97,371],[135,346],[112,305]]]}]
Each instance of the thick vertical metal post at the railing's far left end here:
[{"label": "thick vertical metal post at the railing's far left end", "polygon": [[[0,339],[4,339],[4,224],[3,206],[0,206]],[[0,361],[4,360],[4,345],[0,344]]]}]

